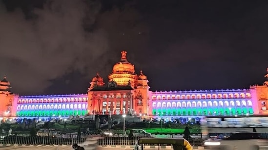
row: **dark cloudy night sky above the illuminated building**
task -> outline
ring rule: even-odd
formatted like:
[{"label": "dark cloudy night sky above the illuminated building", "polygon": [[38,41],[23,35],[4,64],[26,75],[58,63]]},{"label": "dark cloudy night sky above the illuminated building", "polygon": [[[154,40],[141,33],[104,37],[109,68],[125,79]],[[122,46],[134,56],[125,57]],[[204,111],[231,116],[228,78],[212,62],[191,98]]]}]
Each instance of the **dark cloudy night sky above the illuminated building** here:
[{"label": "dark cloudy night sky above the illuminated building", "polygon": [[20,95],[86,93],[122,50],[152,91],[266,80],[267,0],[3,0],[0,20],[0,76]]}]

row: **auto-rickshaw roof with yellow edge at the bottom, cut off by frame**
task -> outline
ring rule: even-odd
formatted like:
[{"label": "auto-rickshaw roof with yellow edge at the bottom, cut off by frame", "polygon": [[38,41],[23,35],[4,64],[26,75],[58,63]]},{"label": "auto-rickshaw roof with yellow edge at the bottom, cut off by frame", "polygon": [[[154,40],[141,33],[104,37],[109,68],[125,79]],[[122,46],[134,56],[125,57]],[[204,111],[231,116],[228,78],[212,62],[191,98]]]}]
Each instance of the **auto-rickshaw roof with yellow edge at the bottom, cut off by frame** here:
[{"label": "auto-rickshaw roof with yellow edge at the bottom, cut off by frame", "polygon": [[[165,146],[162,148],[162,146]],[[151,148],[155,147],[155,148]],[[134,150],[193,150],[185,139],[176,138],[140,138],[137,140]]]}]

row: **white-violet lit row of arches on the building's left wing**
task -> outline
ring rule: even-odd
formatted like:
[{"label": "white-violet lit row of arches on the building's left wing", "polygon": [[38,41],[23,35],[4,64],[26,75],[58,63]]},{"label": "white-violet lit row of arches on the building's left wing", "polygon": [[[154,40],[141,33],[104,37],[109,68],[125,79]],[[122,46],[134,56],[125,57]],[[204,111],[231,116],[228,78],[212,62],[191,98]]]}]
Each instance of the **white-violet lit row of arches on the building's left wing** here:
[{"label": "white-violet lit row of arches on the building's left wing", "polygon": [[80,104],[33,104],[19,105],[17,110],[34,110],[34,109],[87,109],[87,103]]}]

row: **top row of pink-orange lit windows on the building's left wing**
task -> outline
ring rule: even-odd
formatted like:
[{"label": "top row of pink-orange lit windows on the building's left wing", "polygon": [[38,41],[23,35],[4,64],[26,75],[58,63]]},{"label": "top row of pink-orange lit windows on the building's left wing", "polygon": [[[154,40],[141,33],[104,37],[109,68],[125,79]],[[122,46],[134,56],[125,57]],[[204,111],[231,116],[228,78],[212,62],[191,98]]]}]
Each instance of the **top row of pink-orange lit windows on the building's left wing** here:
[{"label": "top row of pink-orange lit windows on the building's left wing", "polygon": [[86,102],[87,97],[81,98],[41,98],[41,99],[19,99],[18,103],[46,103],[46,102]]}]

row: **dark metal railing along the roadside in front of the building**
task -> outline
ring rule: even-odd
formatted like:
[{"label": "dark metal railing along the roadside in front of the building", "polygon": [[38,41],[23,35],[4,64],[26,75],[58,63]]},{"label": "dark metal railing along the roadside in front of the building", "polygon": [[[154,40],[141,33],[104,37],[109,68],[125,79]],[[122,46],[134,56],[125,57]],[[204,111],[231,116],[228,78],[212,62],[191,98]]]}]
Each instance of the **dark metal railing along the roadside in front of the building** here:
[{"label": "dark metal railing along the roadside in front of the building", "polygon": [[[0,135],[0,144],[3,145],[72,145],[77,143],[79,145],[85,145],[86,138],[93,138],[93,136],[77,137],[49,137],[49,136],[15,136],[15,135]],[[133,146],[136,144],[137,137],[96,137],[99,138],[98,145],[121,145],[121,146]],[[201,146],[203,139],[192,138],[189,143],[192,146]]]}]

